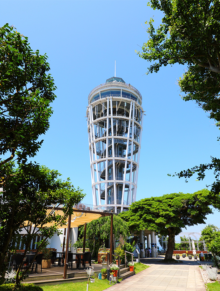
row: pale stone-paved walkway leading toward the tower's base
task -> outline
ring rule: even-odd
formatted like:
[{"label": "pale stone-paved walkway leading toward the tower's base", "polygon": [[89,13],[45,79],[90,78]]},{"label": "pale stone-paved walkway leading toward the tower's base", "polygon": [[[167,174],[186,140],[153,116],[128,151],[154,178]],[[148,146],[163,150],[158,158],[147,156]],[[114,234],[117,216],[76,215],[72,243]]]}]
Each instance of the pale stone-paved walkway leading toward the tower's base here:
[{"label": "pale stone-paved walkway leading toward the tower's base", "polygon": [[[182,259],[182,258],[181,258]],[[106,291],[205,291],[199,263],[188,258],[183,263],[164,264],[160,259],[141,259],[152,264],[148,269],[129,277]]]}]

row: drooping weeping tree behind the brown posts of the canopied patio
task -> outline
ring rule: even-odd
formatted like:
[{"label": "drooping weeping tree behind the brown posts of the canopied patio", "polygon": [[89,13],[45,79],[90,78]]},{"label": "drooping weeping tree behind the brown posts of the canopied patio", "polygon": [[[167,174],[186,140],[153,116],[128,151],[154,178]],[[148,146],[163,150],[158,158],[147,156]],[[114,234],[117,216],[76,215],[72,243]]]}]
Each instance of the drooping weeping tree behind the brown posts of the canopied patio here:
[{"label": "drooping weeping tree behind the brown posts of the canopied patio", "polygon": [[[75,248],[82,248],[83,246],[83,234],[84,226],[79,229],[80,236],[76,243],[73,245]],[[111,234],[111,217],[105,216],[93,220],[86,225],[86,248],[92,251],[92,256],[97,257],[98,249],[100,246],[105,245]],[[113,234],[115,239],[118,239],[120,235],[126,238],[129,233],[128,224],[118,215],[113,216]]]}]

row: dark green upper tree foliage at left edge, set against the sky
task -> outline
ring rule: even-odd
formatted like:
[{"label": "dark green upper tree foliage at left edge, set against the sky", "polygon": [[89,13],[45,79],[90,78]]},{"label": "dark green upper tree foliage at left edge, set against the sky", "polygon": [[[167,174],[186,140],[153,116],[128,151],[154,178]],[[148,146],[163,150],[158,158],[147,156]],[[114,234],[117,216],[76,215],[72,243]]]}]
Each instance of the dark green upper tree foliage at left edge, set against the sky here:
[{"label": "dark green upper tree foliage at left edge, set against the sky", "polygon": [[[8,23],[0,28],[0,166],[33,157],[49,128],[54,80],[47,55],[33,52],[28,38]],[[0,172],[2,167],[0,168]],[[5,181],[2,181],[2,184]]]}]

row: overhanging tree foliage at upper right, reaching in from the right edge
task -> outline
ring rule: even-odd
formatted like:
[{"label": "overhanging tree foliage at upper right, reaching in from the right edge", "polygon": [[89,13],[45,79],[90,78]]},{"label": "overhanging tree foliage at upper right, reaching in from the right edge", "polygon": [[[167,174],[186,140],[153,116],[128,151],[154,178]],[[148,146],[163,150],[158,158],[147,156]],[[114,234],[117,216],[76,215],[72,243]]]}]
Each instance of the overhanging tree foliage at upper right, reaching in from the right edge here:
[{"label": "overhanging tree foliage at upper right, reaching in from the right edge", "polygon": [[[147,73],[162,66],[181,64],[187,69],[178,80],[185,101],[193,100],[220,126],[220,5],[218,0],[150,0],[150,6],[164,13],[162,24],[154,28],[153,19],[146,24],[149,39],[138,55],[150,61]],[[220,159],[181,171],[179,177],[205,177],[214,169],[216,181],[212,191],[220,192]]]}]

